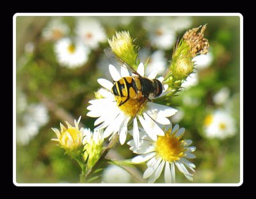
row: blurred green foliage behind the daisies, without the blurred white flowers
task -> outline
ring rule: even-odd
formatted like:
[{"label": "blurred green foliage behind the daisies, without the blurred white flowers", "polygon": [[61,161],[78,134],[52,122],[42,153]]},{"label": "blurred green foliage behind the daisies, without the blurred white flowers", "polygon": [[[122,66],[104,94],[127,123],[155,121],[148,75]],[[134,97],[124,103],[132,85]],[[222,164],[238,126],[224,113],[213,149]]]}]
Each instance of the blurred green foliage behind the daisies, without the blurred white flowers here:
[{"label": "blurred green foliage behind the daisies, without the blurred white flowers", "polygon": [[[70,69],[60,67],[53,51],[54,42],[42,40],[41,33],[49,20],[54,17],[17,17],[16,47],[17,47],[17,90],[26,94],[28,103],[42,102],[49,110],[49,122],[40,128],[40,132],[28,145],[17,143],[17,182],[78,182],[80,169],[76,162],[64,150],[51,141],[55,137],[51,127],[60,127],[60,122],[67,120],[73,123],[74,118],[82,116],[81,123],[93,129],[95,119],[86,117],[88,101],[94,97],[94,92],[100,88],[97,78],[104,76],[99,68],[99,61],[104,56],[103,49],[109,47],[108,42],[92,51],[89,60],[83,67]],[[103,19],[105,18],[105,19]],[[107,18],[107,19],[106,19]],[[117,17],[115,17],[117,18]],[[73,34],[75,17],[62,17]],[[108,17],[99,17],[108,38],[115,31],[129,31],[132,38],[137,38],[135,44],[149,47],[151,52],[157,49],[150,46],[147,29],[141,28],[143,17],[133,17],[129,24],[108,24]],[[114,20],[113,17],[110,19]],[[205,37],[209,39],[214,60],[210,67],[198,71],[199,83],[173,97],[173,107],[184,111],[180,127],[186,128],[186,139],[192,139],[196,146],[196,165],[194,182],[209,183],[239,182],[240,146],[239,146],[239,17],[191,17],[195,28],[207,23]],[[106,22],[107,21],[107,22]],[[189,29],[188,28],[188,29]],[[185,30],[186,31],[186,30]],[[180,38],[185,31],[181,31]],[[28,42],[33,42],[32,53],[24,51]],[[164,51],[170,60],[172,47]],[[108,65],[106,65],[108,68]],[[212,96],[221,88],[230,89],[232,114],[236,118],[237,134],[223,141],[204,138],[202,125],[208,109],[216,109]],[[19,96],[19,95],[17,95]],[[184,104],[184,97],[200,99],[196,106]],[[17,97],[17,104],[19,104]],[[17,121],[20,115],[17,115]],[[127,159],[133,157],[129,147],[117,145],[112,152],[113,157]],[[145,166],[138,167],[143,173]],[[178,170],[177,182],[190,183]],[[136,182],[132,180],[132,182]],[[161,177],[157,182],[163,182]]]}]

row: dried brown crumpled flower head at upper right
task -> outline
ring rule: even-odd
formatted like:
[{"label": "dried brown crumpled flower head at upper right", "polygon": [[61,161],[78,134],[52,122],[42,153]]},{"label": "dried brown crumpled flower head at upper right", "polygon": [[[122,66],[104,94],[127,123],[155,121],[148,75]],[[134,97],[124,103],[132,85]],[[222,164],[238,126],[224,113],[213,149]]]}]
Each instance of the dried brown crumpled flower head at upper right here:
[{"label": "dried brown crumpled flower head at upper right", "polygon": [[[206,25],[207,24],[205,24],[203,27],[199,26],[198,28],[189,29],[183,36],[184,40],[188,42],[190,52],[193,57],[195,57],[196,54],[206,54],[208,52],[209,42],[207,38],[204,38]],[[201,31],[197,33],[201,27]]]}]

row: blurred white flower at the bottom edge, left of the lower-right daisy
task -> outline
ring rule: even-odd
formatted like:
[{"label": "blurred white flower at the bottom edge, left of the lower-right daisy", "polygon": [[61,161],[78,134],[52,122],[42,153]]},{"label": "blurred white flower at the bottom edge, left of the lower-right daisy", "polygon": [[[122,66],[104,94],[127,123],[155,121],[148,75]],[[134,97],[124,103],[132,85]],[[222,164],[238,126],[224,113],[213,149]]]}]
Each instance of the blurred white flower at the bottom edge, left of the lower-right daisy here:
[{"label": "blurred white flower at the bottom edge, left of the lower-right daisy", "polygon": [[109,165],[102,173],[103,183],[129,183],[131,175],[116,165]]}]

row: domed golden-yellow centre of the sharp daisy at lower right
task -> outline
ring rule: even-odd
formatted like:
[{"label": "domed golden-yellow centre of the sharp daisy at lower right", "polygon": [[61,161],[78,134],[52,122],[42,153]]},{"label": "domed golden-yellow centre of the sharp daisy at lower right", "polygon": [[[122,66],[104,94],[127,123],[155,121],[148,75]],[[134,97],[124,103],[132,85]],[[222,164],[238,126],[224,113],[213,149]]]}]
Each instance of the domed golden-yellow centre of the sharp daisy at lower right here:
[{"label": "domed golden-yellow centre of the sharp daisy at lower right", "polygon": [[183,141],[175,137],[170,132],[166,132],[164,136],[159,136],[156,141],[156,152],[164,161],[177,161],[180,157],[184,157],[186,149],[183,147]]}]

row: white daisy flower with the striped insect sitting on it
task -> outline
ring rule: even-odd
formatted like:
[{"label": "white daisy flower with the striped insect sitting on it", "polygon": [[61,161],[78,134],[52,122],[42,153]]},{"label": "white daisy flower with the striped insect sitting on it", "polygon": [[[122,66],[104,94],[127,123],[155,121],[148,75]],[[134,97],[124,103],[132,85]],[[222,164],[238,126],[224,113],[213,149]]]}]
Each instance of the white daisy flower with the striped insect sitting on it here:
[{"label": "white daisy flower with the striped insect sitting on it", "polygon": [[[109,72],[113,77],[114,81],[119,81],[122,77],[129,77],[129,71],[127,68],[122,67],[121,75],[113,65],[109,65]],[[144,65],[140,63],[137,72],[143,77],[144,76]],[[151,72],[148,79],[155,79],[157,70]],[[162,78],[163,79],[163,78]],[[104,129],[103,137],[107,138],[111,134],[118,132],[120,143],[123,145],[127,136],[127,126],[130,122],[133,123],[132,135],[136,146],[139,145],[140,134],[138,129],[138,120],[142,127],[147,132],[148,136],[153,140],[157,140],[158,136],[164,136],[164,132],[159,128],[157,123],[169,124],[170,120],[167,118],[174,115],[177,110],[172,107],[163,106],[154,102],[147,102],[145,100],[143,104],[138,102],[137,99],[129,99],[122,106],[120,100],[116,99],[115,95],[111,93],[113,83],[106,79],[98,79],[98,83],[106,88],[101,90],[100,95],[104,98],[90,100],[90,106],[87,107],[89,112],[87,116],[99,117],[95,121],[94,125],[99,125],[95,129]],[[166,86],[164,86],[166,90]],[[163,95],[164,93],[162,93]],[[112,138],[112,136],[111,136]],[[109,138],[109,139],[111,139]]]}]

